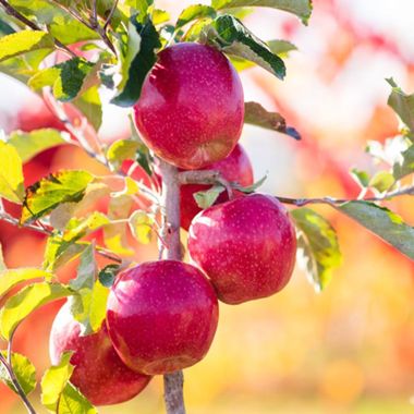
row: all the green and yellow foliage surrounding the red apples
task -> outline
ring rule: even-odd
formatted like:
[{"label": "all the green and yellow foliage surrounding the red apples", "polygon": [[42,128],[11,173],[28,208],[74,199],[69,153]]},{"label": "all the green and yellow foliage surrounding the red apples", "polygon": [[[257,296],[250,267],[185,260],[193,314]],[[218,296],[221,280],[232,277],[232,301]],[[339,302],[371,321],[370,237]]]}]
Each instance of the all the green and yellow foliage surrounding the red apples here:
[{"label": "all the green and yellow foliage surrounding the red apples", "polygon": [[[69,131],[13,131],[2,134],[0,139],[0,219],[47,236],[42,268],[8,269],[0,255],[0,297],[4,299],[0,333],[8,343],[0,354],[0,378],[20,394],[28,412],[34,410],[27,395],[37,386],[41,389],[41,403],[49,412],[97,410],[70,382],[73,372],[70,353],[36,385],[31,361],[12,351],[20,324],[36,308],[71,296],[71,309],[82,324],[82,333],[96,332],[106,317],[109,288],[134,253],[126,242],[127,232],[143,244],[151,236],[160,239],[161,247],[163,243],[154,155],[137,131],[132,126],[130,138],[101,145],[85,137],[78,125],[71,123],[65,106],[76,108],[85,122],[98,131],[102,121],[101,92],[110,94],[111,104],[133,106],[157,53],[182,41],[214,46],[227,54],[238,71],[257,64],[282,81],[283,59],[295,47],[280,39],[265,41],[253,34],[242,22],[252,7],[279,9],[296,15],[304,24],[312,13],[309,0],[211,0],[210,5],[190,5],[173,22],[153,0],[0,0],[0,71],[42,97]],[[74,44],[78,46],[71,47]],[[88,60],[86,56],[93,58]],[[367,153],[379,167],[375,173],[351,171],[361,186],[355,199],[293,199],[275,195],[293,206],[299,263],[317,291],[330,281],[341,264],[341,253],[334,228],[309,208],[312,204],[331,206],[414,259],[414,229],[381,205],[392,197],[414,195],[414,187],[409,184],[414,173],[414,95],[402,92],[393,80],[388,83],[391,86],[388,104],[402,121],[401,133],[383,145],[367,144]],[[244,121],[301,138],[280,113],[269,112],[258,102],[245,102]],[[94,175],[85,170],[51,171],[25,187],[22,166],[41,151],[63,144],[82,147],[106,166],[110,175]],[[144,169],[150,186],[134,179],[131,170],[122,170],[127,160]],[[230,185],[252,193],[261,182],[244,188],[238,183]],[[195,194],[195,198],[206,208],[224,188],[218,181],[209,190]],[[90,211],[105,196],[110,198],[107,211]],[[141,197],[151,207],[137,208],[135,202]],[[10,215],[2,200],[20,205],[21,216]],[[132,206],[135,207],[130,212]],[[94,240],[98,230],[104,230],[101,244]],[[99,268],[97,255],[106,257],[108,265]],[[61,283],[56,271],[75,258],[80,258],[77,276],[69,284]],[[17,293],[11,294],[23,284]]]}]

